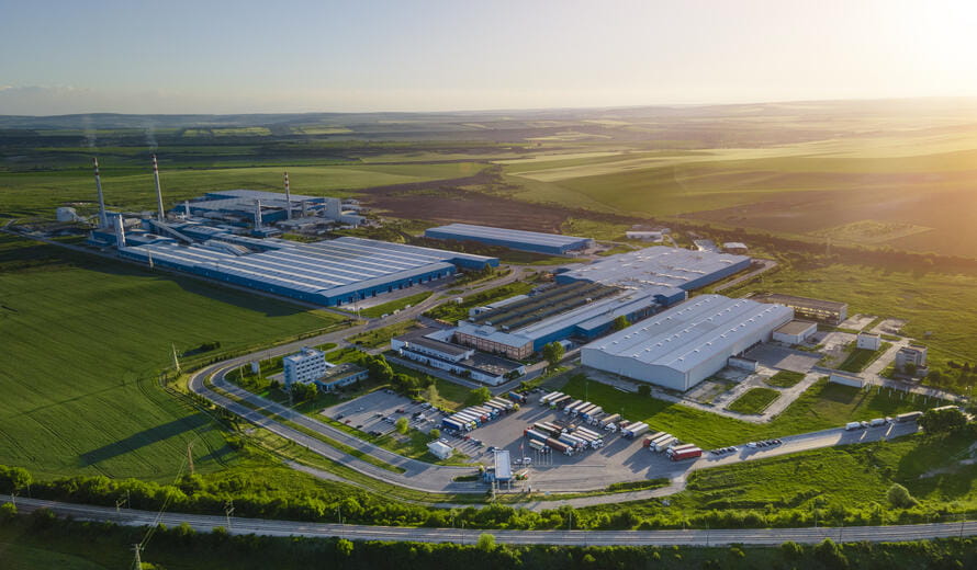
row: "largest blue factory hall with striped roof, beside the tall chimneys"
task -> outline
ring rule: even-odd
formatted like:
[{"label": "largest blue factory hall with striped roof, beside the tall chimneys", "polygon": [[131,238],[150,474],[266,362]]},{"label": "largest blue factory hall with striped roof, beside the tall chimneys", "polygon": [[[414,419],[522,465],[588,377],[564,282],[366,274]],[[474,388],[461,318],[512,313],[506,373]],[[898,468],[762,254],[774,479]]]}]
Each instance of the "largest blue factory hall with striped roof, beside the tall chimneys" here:
[{"label": "largest blue factory hall with striped roof, beside the tall chimneys", "polygon": [[352,237],[300,243],[227,232],[200,243],[159,236],[139,242],[123,242],[120,255],[325,306],[449,277],[457,267],[498,265],[494,258]]}]

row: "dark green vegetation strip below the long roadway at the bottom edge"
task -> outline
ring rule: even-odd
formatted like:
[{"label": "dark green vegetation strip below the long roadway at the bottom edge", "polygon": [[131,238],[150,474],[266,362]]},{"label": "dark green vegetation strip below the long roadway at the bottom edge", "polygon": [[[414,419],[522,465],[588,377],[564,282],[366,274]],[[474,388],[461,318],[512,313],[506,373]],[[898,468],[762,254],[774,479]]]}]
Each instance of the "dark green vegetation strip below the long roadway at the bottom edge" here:
[{"label": "dark green vegetation strip below the long roadway at the bottom edge", "polygon": [[[0,521],[4,559],[12,568],[101,570],[125,568],[144,528],[59,521],[49,513]],[[460,538],[460,535],[459,535]],[[160,527],[142,559],[149,568],[183,570],[306,570],[328,563],[345,570],[428,570],[458,566],[471,570],[534,568],[973,568],[977,554],[970,540],[942,539],[896,544],[845,544],[826,539],[817,545],[785,543],[775,547],[718,546],[549,546],[501,545],[492,534],[468,544],[360,542],[345,538],[236,536],[225,528],[199,533],[187,525]]]}]

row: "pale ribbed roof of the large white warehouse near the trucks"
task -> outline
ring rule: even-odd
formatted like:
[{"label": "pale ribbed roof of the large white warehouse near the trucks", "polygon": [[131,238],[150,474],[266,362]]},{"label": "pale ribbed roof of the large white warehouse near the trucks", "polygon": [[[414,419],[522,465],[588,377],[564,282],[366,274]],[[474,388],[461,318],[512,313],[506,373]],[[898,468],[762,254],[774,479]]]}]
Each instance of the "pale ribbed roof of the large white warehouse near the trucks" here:
[{"label": "pale ribbed roof of the large white warehouse near the trucks", "polygon": [[716,354],[728,352],[742,335],[793,315],[790,308],[782,305],[701,295],[583,350],[687,373]]}]

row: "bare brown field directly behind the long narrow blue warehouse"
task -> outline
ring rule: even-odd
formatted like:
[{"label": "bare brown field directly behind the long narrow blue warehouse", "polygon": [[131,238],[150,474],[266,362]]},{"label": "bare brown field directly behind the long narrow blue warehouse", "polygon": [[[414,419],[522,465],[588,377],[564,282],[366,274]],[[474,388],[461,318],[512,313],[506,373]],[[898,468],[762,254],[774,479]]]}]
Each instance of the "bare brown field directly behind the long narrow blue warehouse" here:
[{"label": "bare brown field directly behind the long narrow blue warehouse", "polygon": [[490,184],[496,179],[482,172],[474,176],[378,186],[362,191],[364,204],[390,216],[437,224],[467,223],[531,231],[560,232],[571,217],[635,224],[640,218],[530,204],[462,186]]}]

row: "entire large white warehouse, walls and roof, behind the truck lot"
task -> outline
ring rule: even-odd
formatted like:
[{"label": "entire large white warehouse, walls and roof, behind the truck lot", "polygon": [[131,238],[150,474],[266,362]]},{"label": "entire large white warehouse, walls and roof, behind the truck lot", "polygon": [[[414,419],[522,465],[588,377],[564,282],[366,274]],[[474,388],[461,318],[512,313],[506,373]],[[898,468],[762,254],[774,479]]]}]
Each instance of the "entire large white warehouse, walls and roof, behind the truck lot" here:
[{"label": "entire large white warehouse, walls and roof, behind the truck lot", "polygon": [[686,391],[768,341],[794,310],[703,295],[581,349],[585,366]]}]

